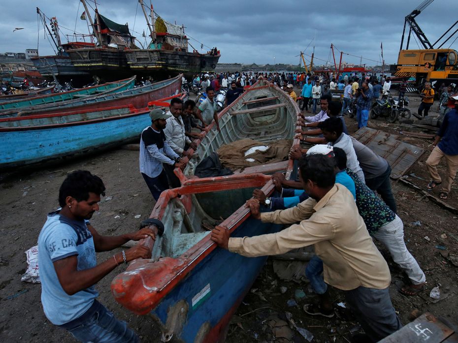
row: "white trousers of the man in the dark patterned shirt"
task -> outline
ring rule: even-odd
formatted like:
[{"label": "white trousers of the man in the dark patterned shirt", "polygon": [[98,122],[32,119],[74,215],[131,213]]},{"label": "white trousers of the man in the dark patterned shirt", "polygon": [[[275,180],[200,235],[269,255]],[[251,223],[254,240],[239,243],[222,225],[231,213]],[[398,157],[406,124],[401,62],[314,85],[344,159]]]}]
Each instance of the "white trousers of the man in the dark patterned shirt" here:
[{"label": "white trousers of the man in the dark patterned shirt", "polygon": [[382,242],[390,251],[393,261],[407,274],[413,284],[425,282],[426,277],[418,262],[407,250],[404,242],[404,225],[396,215],[393,221],[382,225],[373,237]]}]

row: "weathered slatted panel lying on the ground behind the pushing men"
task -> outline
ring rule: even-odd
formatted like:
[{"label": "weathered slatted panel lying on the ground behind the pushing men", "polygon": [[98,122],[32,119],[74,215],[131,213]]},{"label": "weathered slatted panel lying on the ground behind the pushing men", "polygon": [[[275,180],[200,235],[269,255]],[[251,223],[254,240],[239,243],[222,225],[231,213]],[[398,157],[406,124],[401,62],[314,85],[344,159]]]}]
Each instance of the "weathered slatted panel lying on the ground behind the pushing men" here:
[{"label": "weathered slatted panel lying on the ground behind the pushing men", "polygon": [[404,175],[425,152],[425,149],[397,140],[396,135],[369,127],[361,127],[353,137],[390,163],[392,179]]}]

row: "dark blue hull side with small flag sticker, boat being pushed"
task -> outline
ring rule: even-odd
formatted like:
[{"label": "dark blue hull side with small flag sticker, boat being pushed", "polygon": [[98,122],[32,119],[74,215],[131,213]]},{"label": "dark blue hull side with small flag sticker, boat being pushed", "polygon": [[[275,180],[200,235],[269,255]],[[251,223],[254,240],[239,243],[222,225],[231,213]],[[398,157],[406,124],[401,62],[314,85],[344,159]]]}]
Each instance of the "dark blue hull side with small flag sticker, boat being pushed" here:
[{"label": "dark blue hull side with small flag sticker, boat being pushed", "polygon": [[[257,236],[279,231],[281,225],[262,223],[248,218],[231,237]],[[225,332],[224,328],[251,288],[267,257],[249,258],[217,248],[201,261],[196,268],[167,294],[150,313],[165,326],[169,309],[175,304],[188,305],[180,339],[186,343],[216,342]]]}]

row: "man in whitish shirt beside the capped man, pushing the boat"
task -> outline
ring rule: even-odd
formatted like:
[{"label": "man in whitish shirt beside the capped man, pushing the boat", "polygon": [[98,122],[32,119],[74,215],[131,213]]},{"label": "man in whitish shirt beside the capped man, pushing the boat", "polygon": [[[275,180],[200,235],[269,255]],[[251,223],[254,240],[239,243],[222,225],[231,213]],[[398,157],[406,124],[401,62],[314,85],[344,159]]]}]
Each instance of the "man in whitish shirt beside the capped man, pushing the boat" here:
[{"label": "man in whitish shirt beside the capped man, pushing the boat", "polygon": [[180,98],[170,100],[170,107],[167,115],[170,115],[164,128],[165,139],[172,150],[180,156],[189,156],[185,150],[185,145],[188,144],[192,149],[196,149],[196,144],[186,136],[185,125],[181,118],[183,113],[183,101]]}]

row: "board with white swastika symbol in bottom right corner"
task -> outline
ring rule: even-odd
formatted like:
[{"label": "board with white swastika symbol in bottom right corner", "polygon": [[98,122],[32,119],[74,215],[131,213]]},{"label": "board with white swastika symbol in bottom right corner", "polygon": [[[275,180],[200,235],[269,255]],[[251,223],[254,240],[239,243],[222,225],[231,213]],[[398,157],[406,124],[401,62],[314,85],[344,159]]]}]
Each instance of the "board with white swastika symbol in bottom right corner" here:
[{"label": "board with white swastika symbol in bottom right corner", "polygon": [[426,312],[379,343],[440,343],[453,333],[452,329]]}]

